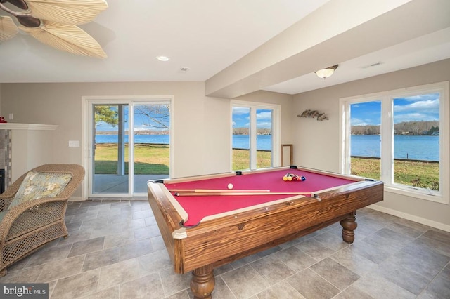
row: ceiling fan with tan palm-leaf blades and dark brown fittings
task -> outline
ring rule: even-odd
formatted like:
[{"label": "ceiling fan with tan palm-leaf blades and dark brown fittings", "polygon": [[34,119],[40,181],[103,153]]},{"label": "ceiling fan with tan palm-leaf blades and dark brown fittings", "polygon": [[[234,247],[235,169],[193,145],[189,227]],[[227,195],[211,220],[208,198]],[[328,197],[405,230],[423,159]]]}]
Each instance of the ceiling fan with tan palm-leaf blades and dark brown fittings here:
[{"label": "ceiling fan with tan palm-leaf blades and dark brown fittings", "polygon": [[[8,2],[20,8],[8,8]],[[100,44],[76,25],[96,18],[108,4],[105,0],[0,0],[0,9],[12,15],[0,15],[0,42],[26,32],[44,44],[77,55],[106,58]]]}]

